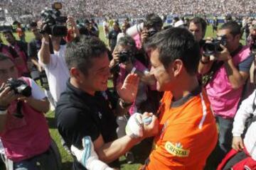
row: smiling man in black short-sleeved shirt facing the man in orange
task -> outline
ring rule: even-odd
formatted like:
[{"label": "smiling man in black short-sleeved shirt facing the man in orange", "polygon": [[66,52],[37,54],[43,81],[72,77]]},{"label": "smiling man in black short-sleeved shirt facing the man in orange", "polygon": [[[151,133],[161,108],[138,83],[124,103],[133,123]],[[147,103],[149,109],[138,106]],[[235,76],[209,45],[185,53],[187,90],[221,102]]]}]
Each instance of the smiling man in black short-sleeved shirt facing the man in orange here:
[{"label": "smiling man in black short-sleeved shirt facing the man in orange", "polygon": [[[120,99],[114,101],[106,91],[110,77],[107,47],[96,37],[75,38],[67,45],[65,62],[70,79],[55,110],[60,135],[68,147],[73,145],[79,149],[82,139],[90,137],[99,159],[118,167],[117,159],[122,154],[158,131],[158,122],[153,116],[151,123],[142,128],[143,137],[126,135],[117,140],[115,116],[127,113],[134,101],[139,83],[137,75],[129,74],[124,84],[117,85]],[[75,155],[73,169],[85,169],[85,164],[80,162]]]}]

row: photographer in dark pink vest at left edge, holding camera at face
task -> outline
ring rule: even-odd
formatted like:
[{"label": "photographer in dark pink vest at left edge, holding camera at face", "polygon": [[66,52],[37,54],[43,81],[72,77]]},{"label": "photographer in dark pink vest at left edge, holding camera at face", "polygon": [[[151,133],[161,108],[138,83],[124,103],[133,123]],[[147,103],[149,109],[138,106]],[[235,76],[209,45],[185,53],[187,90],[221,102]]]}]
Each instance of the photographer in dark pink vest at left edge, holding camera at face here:
[{"label": "photographer in dark pink vest at left edge, holding camera at face", "polygon": [[58,169],[43,115],[49,109],[43,91],[32,79],[18,78],[14,62],[3,54],[0,84],[0,137],[7,159],[13,162],[7,169],[38,169],[37,162],[41,169]]}]

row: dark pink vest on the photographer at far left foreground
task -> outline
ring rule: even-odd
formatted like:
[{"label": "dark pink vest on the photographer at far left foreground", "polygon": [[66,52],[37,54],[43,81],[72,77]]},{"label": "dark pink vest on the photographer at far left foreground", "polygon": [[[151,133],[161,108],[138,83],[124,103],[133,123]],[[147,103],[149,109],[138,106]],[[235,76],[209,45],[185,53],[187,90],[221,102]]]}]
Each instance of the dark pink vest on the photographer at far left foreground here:
[{"label": "dark pink vest on the photographer at far left foreground", "polygon": [[[28,78],[22,79],[31,86]],[[50,147],[50,134],[43,113],[23,103],[24,117],[16,118],[11,114],[16,111],[16,101],[11,103],[8,111],[5,130],[0,134],[6,156],[19,162],[46,152]]]}]

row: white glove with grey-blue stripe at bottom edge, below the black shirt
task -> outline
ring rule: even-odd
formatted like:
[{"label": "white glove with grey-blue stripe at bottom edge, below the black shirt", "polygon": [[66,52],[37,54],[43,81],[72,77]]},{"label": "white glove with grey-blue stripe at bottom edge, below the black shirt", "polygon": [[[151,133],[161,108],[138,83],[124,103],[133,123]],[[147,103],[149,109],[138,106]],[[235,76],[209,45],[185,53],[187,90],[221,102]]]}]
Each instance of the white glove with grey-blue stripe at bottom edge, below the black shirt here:
[{"label": "white glove with grey-blue stripe at bottom edge, below the black shirt", "polygon": [[72,154],[78,159],[88,170],[113,170],[107,164],[99,160],[97,153],[92,144],[90,136],[82,138],[83,149],[78,149],[74,145],[71,146]]}]

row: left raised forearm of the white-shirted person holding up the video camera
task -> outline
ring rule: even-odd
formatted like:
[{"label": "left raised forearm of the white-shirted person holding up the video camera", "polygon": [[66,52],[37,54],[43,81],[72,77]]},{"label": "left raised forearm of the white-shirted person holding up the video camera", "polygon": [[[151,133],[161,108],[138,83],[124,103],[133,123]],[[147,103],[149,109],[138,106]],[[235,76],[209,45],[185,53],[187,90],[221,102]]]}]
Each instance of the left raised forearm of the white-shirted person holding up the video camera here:
[{"label": "left raised forearm of the white-shirted person holding up the video camera", "polygon": [[41,62],[49,64],[50,62],[50,46],[49,38],[43,38],[41,49],[38,52]]}]

